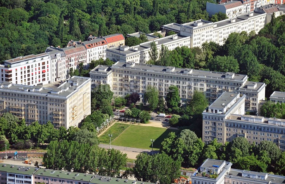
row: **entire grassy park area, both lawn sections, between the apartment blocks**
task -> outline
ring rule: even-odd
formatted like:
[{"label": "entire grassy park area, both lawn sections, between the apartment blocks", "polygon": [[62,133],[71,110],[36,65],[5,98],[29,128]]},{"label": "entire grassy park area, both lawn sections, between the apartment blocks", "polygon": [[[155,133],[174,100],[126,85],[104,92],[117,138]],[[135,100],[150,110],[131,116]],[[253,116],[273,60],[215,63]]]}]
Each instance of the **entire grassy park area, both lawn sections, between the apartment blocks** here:
[{"label": "entire grassy park area, both lawn sections, between the apartment blocks", "polygon": [[115,123],[115,125],[110,127],[99,137],[99,141],[104,144],[109,144],[110,138],[108,134],[112,134],[112,145],[151,149],[150,139],[154,139],[153,149],[159,150],[161,142],[170,132],[178,133],[179,130]]}]

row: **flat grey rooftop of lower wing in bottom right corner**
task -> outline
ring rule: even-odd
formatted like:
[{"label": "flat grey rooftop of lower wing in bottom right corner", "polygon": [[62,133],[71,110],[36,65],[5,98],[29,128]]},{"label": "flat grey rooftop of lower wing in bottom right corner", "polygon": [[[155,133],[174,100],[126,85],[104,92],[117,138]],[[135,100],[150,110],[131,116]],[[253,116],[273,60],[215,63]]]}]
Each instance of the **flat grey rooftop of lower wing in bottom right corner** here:
[{"label": "flat grey rooftop of lower wing in bottom right corner", "polygon": [[[243,170],[238,170],[238,169],[230,169],[229,174],[226,175],[226,177],[239,177],[243,178],[247,181],[266,181],[268,183],[285,183],[285,176],[279,176],[279,175],[273,175],[273,174],[267,174],[267,178],[265,180],[263,179],[255,179],[255,178],[249,178],[249,177],[243,177],[242,176]],[[250,171],[253,172],[253,171]],[[257,172],[259,175],[262,175],[262,173]],[[266,173],[264,173],[266,174]]]}]

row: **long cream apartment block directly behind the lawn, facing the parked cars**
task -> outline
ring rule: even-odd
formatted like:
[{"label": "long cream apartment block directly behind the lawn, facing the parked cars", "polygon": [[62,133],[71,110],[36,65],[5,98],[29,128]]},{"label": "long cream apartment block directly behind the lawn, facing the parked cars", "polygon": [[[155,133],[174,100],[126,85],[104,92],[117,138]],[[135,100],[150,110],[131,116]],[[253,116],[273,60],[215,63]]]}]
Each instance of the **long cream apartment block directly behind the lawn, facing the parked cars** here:
[{"label": "long cream apartment block directly behind the lawn, facing the parked cars", "polygon": [[[213,103],[225,91],[242,91],[251,98],[255,98],[253,100],[256,104],[251,107],[256,109],[258,109],[257,100],[265,98],[266,85],[264,83],[253,84],[254,82],[247,81],[247,75],[231,72],[222,73],[117,61],[112,66],[98,65],[89,74],[92,88],[99,84],[109,84],[114,92],[114,98],[137,92],[141,96],[141,102],[143,102],[143,94],[148,85],[156,86],[159,95],[164,98],[169,86],[176,85],[180,91],[182,104],[192,99],[195,90],[203,92],[209,103]],[[250,87],[251,85],[253,87]],[[251,110],[248,107],[246,109]]]}]

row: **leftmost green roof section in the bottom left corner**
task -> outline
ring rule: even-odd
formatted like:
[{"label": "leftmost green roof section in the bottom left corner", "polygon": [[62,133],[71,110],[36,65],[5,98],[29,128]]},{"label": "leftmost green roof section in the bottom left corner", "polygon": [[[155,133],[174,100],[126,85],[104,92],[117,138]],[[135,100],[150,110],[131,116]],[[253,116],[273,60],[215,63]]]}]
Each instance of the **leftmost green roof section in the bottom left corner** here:
[{"label": "leftmost green roof section in the bottom left corner", "polygon": [[0,171],[15,174],[33,175],[37,168],[29,166],[16,166],[11,164],[0,164]]}]

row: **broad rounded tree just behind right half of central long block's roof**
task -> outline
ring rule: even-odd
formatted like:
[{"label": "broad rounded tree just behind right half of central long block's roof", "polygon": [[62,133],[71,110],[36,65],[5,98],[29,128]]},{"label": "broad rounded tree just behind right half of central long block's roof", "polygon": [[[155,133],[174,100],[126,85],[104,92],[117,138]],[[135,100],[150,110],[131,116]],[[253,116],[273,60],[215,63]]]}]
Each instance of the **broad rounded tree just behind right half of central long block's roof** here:
[{"label": "broad rounded tree just behind right half of central long block's roof", "polygon": [[216,56],[207,64],[210,71],[239,72],[239,63],[233,56]]}]

